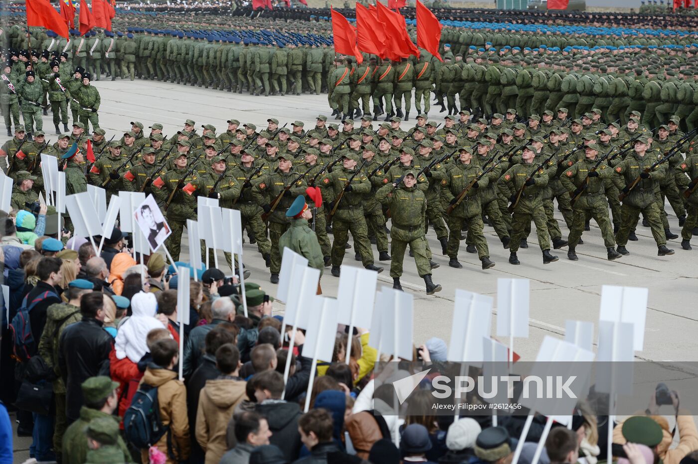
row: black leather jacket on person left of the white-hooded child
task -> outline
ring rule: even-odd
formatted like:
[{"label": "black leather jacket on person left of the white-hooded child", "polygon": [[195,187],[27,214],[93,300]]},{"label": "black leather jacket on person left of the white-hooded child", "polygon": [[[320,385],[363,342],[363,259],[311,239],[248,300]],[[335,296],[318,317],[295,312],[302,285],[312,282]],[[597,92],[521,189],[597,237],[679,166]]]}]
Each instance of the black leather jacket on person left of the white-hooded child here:
[{"label": "black leather jacket on person left of the white-hooded child", "polygon": [[83,317],[68,325],[59,341],[58,365],[66,384],[66,416],[69,422],[80,417],[82,382],[98,375],[103,362],[109,359],[114,337],[95,318]]}]

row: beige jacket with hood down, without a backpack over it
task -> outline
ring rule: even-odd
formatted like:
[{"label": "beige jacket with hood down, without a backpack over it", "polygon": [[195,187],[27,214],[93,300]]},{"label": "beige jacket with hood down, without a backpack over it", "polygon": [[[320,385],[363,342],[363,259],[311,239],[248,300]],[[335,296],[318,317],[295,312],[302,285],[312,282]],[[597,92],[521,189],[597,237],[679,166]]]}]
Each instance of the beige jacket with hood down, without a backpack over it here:
[{"label": "beige jacket with hood down, without a backpack over it", "polygon": [[206,382],[196,413],[196,440],[206,451],[206,464],[218,464],[228,450],[225,429],[235,407],[247,398],[244,380],[218,378]]}]

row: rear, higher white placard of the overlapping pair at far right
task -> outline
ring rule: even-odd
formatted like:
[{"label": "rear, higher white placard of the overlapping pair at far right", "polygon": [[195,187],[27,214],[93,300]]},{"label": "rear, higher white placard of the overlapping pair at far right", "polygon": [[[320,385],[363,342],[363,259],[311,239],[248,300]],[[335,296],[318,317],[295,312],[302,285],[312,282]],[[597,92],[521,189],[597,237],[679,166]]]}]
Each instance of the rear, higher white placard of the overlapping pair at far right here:
[{"label": "rear, higher white placard of the overlapping pair at far right", "polygon": [[645,340],[648,289],[640,287],[601,287],[599,320],[630,323],[633,326],[633,348],[642,351]]}]

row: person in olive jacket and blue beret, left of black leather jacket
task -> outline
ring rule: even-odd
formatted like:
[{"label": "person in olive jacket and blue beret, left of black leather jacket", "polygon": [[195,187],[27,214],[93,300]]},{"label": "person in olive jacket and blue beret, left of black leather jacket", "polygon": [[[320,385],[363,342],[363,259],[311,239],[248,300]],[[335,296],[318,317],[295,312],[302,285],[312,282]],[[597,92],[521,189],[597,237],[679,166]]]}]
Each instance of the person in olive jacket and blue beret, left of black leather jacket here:
[{"label": "person in olive jacket and blue beret, left of black leather jacket", "polygon": [[56,415],[54,418],[53,449],[60,456],[63,434],[68,424],[66,423],[66,385],[59,369],[59,340],[68,325],[77,323],[82,317],[80,314],[80,301],[84,295],[91,293],[93,285],[84,279],[76,279],[64,292],[67,303],[54,303],[46,311],[46,325],[39,339],[38,353],[47,367],[53,369],[56,378],[53,383],[54,402]]}]

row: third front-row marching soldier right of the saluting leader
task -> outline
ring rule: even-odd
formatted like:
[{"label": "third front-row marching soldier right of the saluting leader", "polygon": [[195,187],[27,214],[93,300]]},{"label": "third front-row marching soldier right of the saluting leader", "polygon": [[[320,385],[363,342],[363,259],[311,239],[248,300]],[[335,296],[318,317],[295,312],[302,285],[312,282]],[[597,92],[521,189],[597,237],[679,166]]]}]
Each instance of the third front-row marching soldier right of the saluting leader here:
[{"label": "third front-row marching soldier right of the saluting leader", "polygon": [[[613,169],[605,162],[599,164],[597,156],[602,148],[597,144],[589,144],[585,148],[585,159],[572,164],[560,175],[563,187],[577,197],[572,208],[572,224],[570,235],[567,238],[567,258],[578,261],[575,248],[584,232],[584,222],[588,216],[598,224],[604,239],[604,246],[608,252],[609,261],[621,258],[622,254],[616,252],[613,229],[609,221],[609,212],[604,201],[604,179],[613,176]],[[608,169],[607,169],[608,168]]]}]

